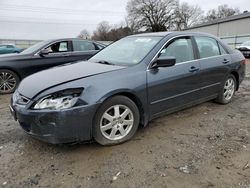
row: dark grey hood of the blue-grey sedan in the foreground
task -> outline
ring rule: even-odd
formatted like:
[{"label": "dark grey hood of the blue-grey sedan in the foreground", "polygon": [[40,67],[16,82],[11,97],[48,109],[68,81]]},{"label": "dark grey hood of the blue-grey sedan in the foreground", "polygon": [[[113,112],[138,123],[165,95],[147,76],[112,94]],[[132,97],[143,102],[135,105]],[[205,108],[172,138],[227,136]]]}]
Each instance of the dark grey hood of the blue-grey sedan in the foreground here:
[{"label": "dark grey hood of the blue-grey sedan in the foreground", "polygon": [[105,65],[88,61],[51,68],[25,78],[18,87],[18,92],[32,99],[40,92],[70,81],[122,69],[122,66]]}]

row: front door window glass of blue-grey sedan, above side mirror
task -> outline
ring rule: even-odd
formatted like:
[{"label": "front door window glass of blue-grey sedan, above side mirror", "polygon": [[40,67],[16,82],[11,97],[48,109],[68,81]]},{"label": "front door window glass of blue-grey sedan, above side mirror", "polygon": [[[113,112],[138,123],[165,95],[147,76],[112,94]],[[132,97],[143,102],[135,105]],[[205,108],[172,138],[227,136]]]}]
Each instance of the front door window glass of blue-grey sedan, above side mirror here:
[{"label": "front door window glass of blue-grey sedan, above side mirror", "polygon": [[176,63],[194,60],[192,41],[189,38],[175,39],[163,48],[159,56],[173,56],[176,58]]}]

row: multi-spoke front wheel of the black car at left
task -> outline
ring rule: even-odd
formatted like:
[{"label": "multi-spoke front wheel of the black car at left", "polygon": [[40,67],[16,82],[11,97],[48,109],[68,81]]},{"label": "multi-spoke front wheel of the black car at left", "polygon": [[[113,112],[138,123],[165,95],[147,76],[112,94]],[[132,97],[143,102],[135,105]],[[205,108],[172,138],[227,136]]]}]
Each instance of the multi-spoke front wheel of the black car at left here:
[{"label": "multi-spoke front wheel of the black car at left", "polygon": [[20,83],[19,77],[13,71],[0,69],[0,94],[13,93]]}]

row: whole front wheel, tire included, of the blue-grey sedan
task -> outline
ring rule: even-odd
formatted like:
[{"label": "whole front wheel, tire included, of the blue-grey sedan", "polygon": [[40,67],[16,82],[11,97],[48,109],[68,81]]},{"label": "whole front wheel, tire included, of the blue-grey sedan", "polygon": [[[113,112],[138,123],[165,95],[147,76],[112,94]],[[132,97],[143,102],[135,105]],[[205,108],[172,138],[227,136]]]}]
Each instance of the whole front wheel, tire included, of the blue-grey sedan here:
[{"label": "whole front wheel, tire included, of the blue-grey sedan", "polygon": [[114,96],[97,110],[93,137],[101,145],[121,144],[133,137],[139,119],[138,107],[132,100],[125,96]]}]

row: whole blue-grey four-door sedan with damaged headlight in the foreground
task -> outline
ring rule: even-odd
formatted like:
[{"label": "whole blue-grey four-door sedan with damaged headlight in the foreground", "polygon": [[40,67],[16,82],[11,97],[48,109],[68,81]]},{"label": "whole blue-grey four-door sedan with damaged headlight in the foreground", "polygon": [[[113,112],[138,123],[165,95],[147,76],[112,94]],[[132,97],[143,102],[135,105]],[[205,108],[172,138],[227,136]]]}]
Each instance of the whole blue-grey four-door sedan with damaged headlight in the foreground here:
[{"label": "whole blue-grey four-door sedan with damaged headlight in the foreground", "polygon": [[43,141],[119,144],[156,117],[208,100],[231,102],[245,64],[238,50],[212,35],[139,34],[88,62],[29,76],[10,109],[28,134]]}]

